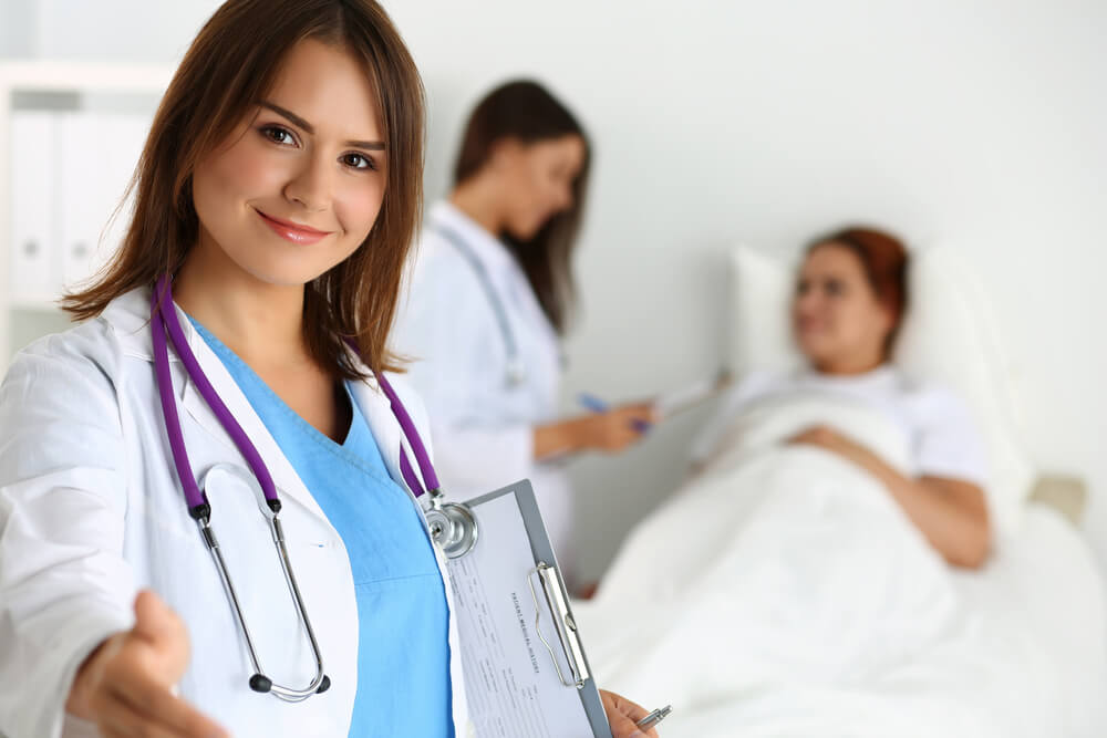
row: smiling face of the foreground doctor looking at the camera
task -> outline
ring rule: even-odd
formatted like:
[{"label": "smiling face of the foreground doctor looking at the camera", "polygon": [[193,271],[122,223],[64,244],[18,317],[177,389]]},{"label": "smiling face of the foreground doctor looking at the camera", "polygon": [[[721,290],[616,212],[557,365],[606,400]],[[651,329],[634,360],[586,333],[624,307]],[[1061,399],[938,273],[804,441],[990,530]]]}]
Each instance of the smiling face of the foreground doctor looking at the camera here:
[{"label": "smiling face of the foreground doctor looking at the camera", "polygon": [[353,253],[384,199],[377,96],[362,64],[298,43],[263,100],[193,174],[197,249],[275,285],[303,285]]}]

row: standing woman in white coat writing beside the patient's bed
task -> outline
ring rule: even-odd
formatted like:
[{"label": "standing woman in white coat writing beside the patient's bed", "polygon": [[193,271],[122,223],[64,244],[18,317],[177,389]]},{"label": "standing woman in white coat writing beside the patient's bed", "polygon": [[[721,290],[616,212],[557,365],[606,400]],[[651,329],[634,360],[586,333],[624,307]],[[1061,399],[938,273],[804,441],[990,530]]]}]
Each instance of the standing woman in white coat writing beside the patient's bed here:
[{"label": "standing woman in white coat writing beside the patient's bed", "polygon": [[530,477],[570,569],[572,497],[557,461],[621,450],[651,419],[648,405],[558,416],[589,160],[583,128],[541,85],[509,82],[485,96],[465,126],[449,198],[424,229],[395,342],[414,360],[451,493]]}]

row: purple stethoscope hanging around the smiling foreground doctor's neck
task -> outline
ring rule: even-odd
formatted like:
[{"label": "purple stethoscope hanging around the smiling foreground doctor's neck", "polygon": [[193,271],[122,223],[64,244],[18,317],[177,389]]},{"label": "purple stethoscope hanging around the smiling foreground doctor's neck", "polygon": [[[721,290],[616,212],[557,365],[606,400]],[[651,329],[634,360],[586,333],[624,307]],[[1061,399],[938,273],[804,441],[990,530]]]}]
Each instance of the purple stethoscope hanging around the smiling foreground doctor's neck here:
[{"label": "purple stethoscope hanging around the smiling foreground doctor's neck", "polygon": [[[219,579],[223,581],[227,599],[235,611],[235,616],[238,620],[239,627],[242,630],[242,635],[246,636],[246,646],[254,667],[254,676],[250,677],[249,682],[250,688],[255,692],[272,693],[284,701],[290,703],[302,701],[313,694],[327,692],[331,686],[331,679],[323,673],[323,657],[319,652],[319,643],[315,641],[315,634],[311,630],[308,613],[303,607],[303,597],[300,595],[300,588],[297,585],[296,576],[292,574],[288,548],[284,544],[284,531],[278,518],[281,505],[280,499],[277,497],[277,486],[273,484],[272,475],[269,474],[269,468],[261,459],[261,455],[258,454],[257,448],[255,448],[246,432],[242,430],[238,420],[235,419],[235,416],[227,409],[219,394],[211,386],[210,381],[208,381],[207,375],[200,368],[199,362],[196,361],[196,355],[193,354],[188,345],[188,340],[180,329],[180,320],[173,304],[173,290],[168,277],[158,279],[154,288],[153,295],[151,297],[149,318],[151,333],[154,340],[154,368],[157,394],[162,401],[162,412],[165,416],[165,429],[169,436],[173,462],[176,466],[177,477],[180,480],[185,501],[188,505],[188,514],[199,526],[204,542],[211,552],[211,558],[219,570]],[[193,467],[188,461],[188,451],[185,448],[184,436],[180,432],[180,419],[177,416],[177,401],[173,393],[173,377],[169,374],[169,349],[166,342],[167,332],[168,342],[173,344],[177,355],[184,362],[185,371],[193,382],[196,383],[196,388],[199,391],[200,396],[204,397],[204,402],[215,413],[219,424],[246,458],[252,476],[246,475],[245,470],[232,465],[217,465],[208,469],[204,479],[197,484],[196,477],[193,474]],[[392,388],[392,385],[389,384],[389,381],[384,378],[383,374],[376,375],[376,382],[389,398],[392,413],[396,416],[396,420],[400,423],[400,427],[415,454],[415,460],[418,464],[423,479],[430,488],[423,487],[412,468],[411,461],[407,460],[407,453],[401,446],[400,471],[404,477],[404,481],[407,482],[407,487],[421,502],[432,540],[451,559],[465,555],[473,549],[477,541],[477,521],[473,516],[473,511],[465,505],[442,501],[443,492],[442,486],[438,484],[438,476],[434,472],[426,447],[418,437],[418,432],[415,429],[415,424],[412,422],[411,415],[407,414],[407,409],[400,402],[400,397]],[[246,625],[246,617],[242,615],[238,595],[235,592],[234,584],[231,584],[227,564],[224,561],[219,543],[215,537],[215,530],[211,528],[211,505],[208,502],[207,495],[204,491],[211,474],[214,471],[225,471],[226,469],[223,468],[225,466],[230,467],[227,471],[240,477],[250,486],[258,497],[258,507],[269,522],[269,530],[280,558],[281,569],[284,571],[284,580],[288,582],[289,593],[296,603],[297,612],[300,615],[300,621],[303,623],[303,628],[308,634],[308,641],[311,643],[311,651],[315,658],[315,677],[304,689],[292,689],[275,684],[272,679],[265,675],[261,664],[258,661],[254,641],[250,638],[250,631]],[[428,502],[424,503],[424,500]]]}]

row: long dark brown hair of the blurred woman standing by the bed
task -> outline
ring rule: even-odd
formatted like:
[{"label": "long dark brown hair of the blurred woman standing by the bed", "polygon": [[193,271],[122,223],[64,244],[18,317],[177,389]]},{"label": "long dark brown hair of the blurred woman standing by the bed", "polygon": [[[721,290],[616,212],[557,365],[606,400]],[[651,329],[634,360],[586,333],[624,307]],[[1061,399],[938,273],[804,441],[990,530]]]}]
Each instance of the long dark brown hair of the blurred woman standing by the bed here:
[{"label": "long dark brown hair of the blurred woman standing by the bed", "polygon": [[583,166],[572,183],[572,205],[550,218],[529,241],[503,237],[527,274],[542,311],[561,335],[566,332],[569,309],[576,297],[572,248],[580,230],[592,158],[584,128],[537,82],[507,82],[485,95],[469,115],[454,166],[456,186],[484,168],[497,142],[515,139],[535,144],[562,136],[580,136],[584,142]]}]

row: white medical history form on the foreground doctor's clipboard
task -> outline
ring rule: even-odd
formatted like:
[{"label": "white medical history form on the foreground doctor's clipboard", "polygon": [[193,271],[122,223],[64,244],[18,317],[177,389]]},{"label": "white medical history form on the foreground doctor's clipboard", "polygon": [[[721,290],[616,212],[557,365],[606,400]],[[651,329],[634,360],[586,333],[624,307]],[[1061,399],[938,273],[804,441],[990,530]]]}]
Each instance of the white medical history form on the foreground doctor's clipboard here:
[{"label": "white medical history form on the foreground doctor's clipboard", "polygon": [[[562,682],[570,665],[534,573],[535,552],[516,496],[494,497],[473,510],[479,528],[477,544],[448,565],[465,692],[476,735],[610,736],[598,732],[598,721],[607,725],[602,711],[599,719],[590,715],[581,692]],[[555,657],[561,675],[555,668]],[[589,686],[594,692],[594,686]],[[598,701],[594,707],[599,707]]]}]

